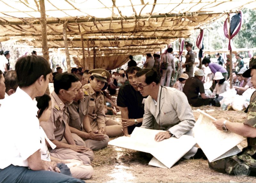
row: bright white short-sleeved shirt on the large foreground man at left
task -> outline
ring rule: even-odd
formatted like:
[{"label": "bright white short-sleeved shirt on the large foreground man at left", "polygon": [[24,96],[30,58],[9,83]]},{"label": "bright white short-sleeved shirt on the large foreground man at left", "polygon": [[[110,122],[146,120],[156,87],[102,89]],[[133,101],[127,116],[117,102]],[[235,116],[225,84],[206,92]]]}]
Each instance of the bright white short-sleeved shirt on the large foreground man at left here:
[{"label": "bright white short-sleeved shirt on the large foreground man at left", "polygon": [[36,102],[21,90],[0,107],[0,169],[9,165],[28,167],[28,157],[41,148]]}]

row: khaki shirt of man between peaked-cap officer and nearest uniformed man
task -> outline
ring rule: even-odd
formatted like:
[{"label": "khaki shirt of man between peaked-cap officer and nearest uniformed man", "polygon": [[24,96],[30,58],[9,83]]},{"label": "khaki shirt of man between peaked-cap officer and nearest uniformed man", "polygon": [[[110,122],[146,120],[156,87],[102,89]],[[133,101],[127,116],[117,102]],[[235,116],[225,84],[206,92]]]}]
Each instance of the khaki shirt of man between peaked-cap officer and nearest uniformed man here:
[{"label": "khaki shirt of man between peaked-cap officer and nearest uniformed man", "polygon": [[80,131],[83,130],[84,116],[89,112],[90,96],[84,90],[84,98],[68,106],[68,125]]}]

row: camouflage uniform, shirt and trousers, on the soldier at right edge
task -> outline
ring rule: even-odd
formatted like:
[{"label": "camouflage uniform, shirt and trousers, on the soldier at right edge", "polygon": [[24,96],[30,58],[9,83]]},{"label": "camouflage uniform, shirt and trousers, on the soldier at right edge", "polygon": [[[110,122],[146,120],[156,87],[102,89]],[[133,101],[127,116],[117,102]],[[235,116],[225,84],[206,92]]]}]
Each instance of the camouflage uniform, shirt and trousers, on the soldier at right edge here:
[{"label": "camouflage uniform, shirt and trousers, on the soldier at right edge", "polygon": [[[244,124],[256,128],[256,91],[253,92],[248,108],[247,119]],[[226,157],[212,163],[209,167],[213,170],[223,173],[236,174],[236,166],[244,165],[251,173],[256,172],[256,138],[247,137],[248,146],[237,155]]]}]

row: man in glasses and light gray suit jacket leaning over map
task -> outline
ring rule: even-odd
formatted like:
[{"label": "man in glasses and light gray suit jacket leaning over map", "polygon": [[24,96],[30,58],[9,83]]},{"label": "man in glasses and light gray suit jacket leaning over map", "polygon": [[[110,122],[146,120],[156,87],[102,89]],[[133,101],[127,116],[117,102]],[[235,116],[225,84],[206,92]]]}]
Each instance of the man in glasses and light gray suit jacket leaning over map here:
[{"label": "man in glasses and light gray suit jacket leaning over map", "polygon": [[[161,86],[155,70],[143,69],[136,73],[136,77],[141,95],[148,96],[141,128],[165,130],[156,134],[156,141],[171,136],[192,135],[195,118],[186,95],[175,88]],[[193,148],[184,158],[195,155],[197,148]]]}]

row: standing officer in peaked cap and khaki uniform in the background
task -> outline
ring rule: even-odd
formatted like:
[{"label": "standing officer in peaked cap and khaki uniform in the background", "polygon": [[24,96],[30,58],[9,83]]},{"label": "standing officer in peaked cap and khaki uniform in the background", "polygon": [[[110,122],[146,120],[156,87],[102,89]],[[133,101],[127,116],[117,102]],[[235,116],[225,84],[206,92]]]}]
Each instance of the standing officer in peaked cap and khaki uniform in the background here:
[{"label": "standing officer in peaked cap and khaki uniform in the background", "polygon": [[188,51],[186,55],[186,62],[182,65],[183,68],[186,68],[185,73],[188,74],[188,77],[193,77],[194,67],[196,55],[192,50],[192,44],[188,41],[185,42],[186,49]]}]

